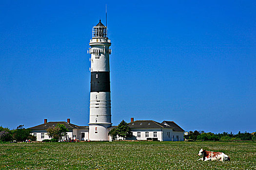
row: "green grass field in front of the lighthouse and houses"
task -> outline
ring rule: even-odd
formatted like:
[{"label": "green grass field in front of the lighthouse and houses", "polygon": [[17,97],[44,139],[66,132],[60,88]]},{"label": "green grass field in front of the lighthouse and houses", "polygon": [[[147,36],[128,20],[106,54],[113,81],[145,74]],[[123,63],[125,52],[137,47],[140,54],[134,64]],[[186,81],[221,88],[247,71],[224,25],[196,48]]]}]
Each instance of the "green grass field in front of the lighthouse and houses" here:
[{"label": "green grass field in front of the lighthouse and houses", "polygon": [[[231,161],[196,161],[201,148],[224,152]],[[0,144],[0,169],[256,170],[256,143],[6,143]]]}]

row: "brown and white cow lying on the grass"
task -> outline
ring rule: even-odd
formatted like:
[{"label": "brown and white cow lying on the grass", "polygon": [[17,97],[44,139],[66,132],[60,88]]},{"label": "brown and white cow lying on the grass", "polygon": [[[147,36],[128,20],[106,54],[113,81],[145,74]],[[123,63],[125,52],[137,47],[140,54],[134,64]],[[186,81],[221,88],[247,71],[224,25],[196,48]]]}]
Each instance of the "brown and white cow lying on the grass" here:
[{"label": "brown and white cow lying on the grass", "polygon": [[220,152],[211,152],[201,149],[198,153],[198,156],[203,156],[202,158],[198,159],[202,161],[213,161],[213,160],[220,160],[220,161],[230,161],[230,157],[224,153]]}]

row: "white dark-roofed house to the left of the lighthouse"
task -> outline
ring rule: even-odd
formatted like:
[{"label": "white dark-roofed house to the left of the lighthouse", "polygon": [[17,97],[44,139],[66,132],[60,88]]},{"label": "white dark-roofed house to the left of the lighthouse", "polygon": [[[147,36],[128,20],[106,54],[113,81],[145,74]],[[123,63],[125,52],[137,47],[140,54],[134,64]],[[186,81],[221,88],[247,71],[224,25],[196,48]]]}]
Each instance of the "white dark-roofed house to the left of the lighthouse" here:
[{"label": "white dark-roofed house to the left of the lighthouse", "polygon": [[38,126],[34,126],[29,128],[31,130],[31,134],[37,137],[37,141],[42,141],[44,139],[51,139],[47,135],[47,129],[52,126],[56,126],[57,124],[63,124],[67,129],[67,135],[64,138],[76,138],[80,141],[88,140],[88,126],[78,126],[75,124],[70,123],[70,119],[67,119],[67,122],[65,121],[51,121],[47,122],[47,119],[44,119],[44,123],[40,124]]}]

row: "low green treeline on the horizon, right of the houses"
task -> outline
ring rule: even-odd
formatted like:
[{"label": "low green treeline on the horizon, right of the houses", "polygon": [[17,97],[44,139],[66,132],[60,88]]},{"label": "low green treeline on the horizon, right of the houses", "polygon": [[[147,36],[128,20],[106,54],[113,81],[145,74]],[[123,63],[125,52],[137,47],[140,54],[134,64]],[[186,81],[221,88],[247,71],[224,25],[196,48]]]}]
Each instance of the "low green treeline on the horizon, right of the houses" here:
[{"label": "low green treeline on the horizon, right of the houses", "polygon": [[229,134],[227,132],[223,132],[222,134],[214,134],[211,132],[204,133],[203,131],[189,131],[188,136],[185,138],[189,138],[192,140],[219,140],[219,141],[239,141],[239,140],[253,140],[256,141],[256,132],[248,133],[244,132],[241,133],[240,131],[238,134],[233,134],[232,132]]}]

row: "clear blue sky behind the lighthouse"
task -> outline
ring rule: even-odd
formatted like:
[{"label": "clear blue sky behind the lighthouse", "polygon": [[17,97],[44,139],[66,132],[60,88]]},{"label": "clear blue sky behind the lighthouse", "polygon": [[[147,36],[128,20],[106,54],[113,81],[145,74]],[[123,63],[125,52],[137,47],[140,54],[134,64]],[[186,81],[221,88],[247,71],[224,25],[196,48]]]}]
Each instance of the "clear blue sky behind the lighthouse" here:
[{"label": "clear blue sky behind the lighthouse", "polygon": [[88,125],[92,27],[112,42],[112,122],[256,131],[256,1],[0,1],[0,125]]}]

